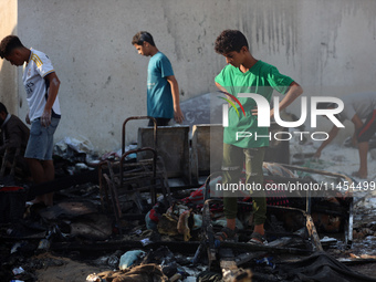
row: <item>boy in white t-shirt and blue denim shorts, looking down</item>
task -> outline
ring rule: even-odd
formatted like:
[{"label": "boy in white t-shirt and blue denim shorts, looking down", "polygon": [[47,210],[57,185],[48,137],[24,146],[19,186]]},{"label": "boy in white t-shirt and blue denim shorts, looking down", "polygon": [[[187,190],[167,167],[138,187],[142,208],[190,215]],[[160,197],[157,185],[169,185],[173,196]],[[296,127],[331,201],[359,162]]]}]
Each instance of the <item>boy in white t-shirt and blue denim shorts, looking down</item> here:
[{"label": "boy in white t-shirt and blue denim shorts, looking down", "polygon": [[[25,121],[31,124],[31,128],[24,157],[34,184],[53,180],[55,175],[52,160],[53,134],[61,117],[58,98],[59,77],[44,53],[27,49],[15,35],[6,36],[1,41],[0,56],[15,66],[27,63],[22,81],[29,105]],[[38,196],[33,202],[52,206],[53,194]]]}]

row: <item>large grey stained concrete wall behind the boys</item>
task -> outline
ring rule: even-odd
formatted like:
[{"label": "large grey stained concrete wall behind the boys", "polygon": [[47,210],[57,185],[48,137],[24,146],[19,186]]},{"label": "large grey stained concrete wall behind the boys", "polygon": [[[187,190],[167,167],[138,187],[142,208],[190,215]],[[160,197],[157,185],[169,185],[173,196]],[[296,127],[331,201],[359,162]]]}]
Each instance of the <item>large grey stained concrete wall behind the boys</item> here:
[{"label": "large grey stained concrete wall behind the boys", "polygon": [[[14,10],[14,2],[2,0],[1,8]],[[341,96],[373,90],[375,12],[374,0],[18,0],[17,33],[52,59],[62,81],[56,140],[83,135],[113,150],[123,121],[146,114],[148,59],[130,44],[137,31],[149,31],[169,56],[182,101],[216,91],[226,62],[213,42],[223,29],[243,31],[254,56],[295,79],[305,95]],[[1,38],[15,32],[0,27]],[[1,85],[14,76],[6,64]],[[18,94],[24,101],[22,86]],[[23,117],[25,103],[17,107]],[[140,125],[129,125],[128,140]]]}]

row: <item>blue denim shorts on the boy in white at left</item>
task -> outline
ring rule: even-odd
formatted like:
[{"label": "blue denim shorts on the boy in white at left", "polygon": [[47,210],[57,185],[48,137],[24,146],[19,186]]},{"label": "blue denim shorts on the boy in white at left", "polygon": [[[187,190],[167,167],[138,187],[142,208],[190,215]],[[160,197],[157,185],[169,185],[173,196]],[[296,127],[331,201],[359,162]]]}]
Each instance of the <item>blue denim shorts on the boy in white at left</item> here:
[{"label": "blue denim shorts on the boy in white at left", "polygon": [[24,153],[25,158],[52,160],[53,134],[55,133],[60,118],[52,117],[51,125],[43,127],[41,119],[31,123],[30,137]]}]

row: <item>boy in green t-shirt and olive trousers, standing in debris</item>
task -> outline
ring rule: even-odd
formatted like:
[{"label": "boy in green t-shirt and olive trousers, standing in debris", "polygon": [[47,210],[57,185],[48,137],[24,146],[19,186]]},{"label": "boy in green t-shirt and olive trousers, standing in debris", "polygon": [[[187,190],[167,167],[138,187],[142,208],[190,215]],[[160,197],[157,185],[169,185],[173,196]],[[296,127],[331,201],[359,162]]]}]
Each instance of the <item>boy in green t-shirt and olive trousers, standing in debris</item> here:
[{"label": "boy in green t-shirt and olive trousers, standing in debris", "polygon": [[[236,96],[246,112],[243,115],[240,105],[234,103],[239,111],[230,107],[228,113],[229,125],[223,130],[222,185],[239,184],[243,163],[246,164],[246,184],[253,184],[253,187],[254,184],[263,185],[262,163],[265,147],[269,145],[269,128],[258,127],[255,102],[252,98],[238,97],[238,94],[254,93],[270,102],[273,90],[276,90],[284,94],[278,105],[281,111],[301,95],[303,90],[292,79],[280,74],[275,66],[254,59],[249,51],[246,36],[238,30],[222,31],[216,40],[215,50],[223,55],[228,63],[216,76],[216,85],[220,91]],[[238,112],[241,114],[238,115]],[[271,109],[270,117],[273,115],[274,109]],[[247,132],[249,137],[239,137],[237,135],[239,132]],[[258,191],[257,195],[254,191],[251,192],[253,194],[254,230],[250,242],[263,243],[265,241],[267,199],[263,190]],[[232,197],[229,195],[223,197],[227,227],[217,233],[218,240],[231,239],[237,233],[238,202],[236,196],[232,194]]]}]

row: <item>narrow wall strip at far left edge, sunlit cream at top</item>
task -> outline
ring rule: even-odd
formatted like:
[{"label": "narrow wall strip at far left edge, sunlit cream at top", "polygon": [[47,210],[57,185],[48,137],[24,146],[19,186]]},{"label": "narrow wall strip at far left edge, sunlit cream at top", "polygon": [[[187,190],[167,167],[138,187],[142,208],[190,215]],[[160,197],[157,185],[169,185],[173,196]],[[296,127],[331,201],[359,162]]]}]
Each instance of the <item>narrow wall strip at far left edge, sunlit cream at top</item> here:
[{"label": "narrow wall strip at far left edge, sunlit cream at top", "polygon": [[[17,1],[0,1],[0,34],[17,34]],[[2,39],[3,36],[1,36]],[[0,39],[0,40],[1,40]],[[0,60],[0,102],[2,102],[8,112],[18,114],[18,81],[17,69],[10,63]],[[22,103],[22,102],[20,102]]]}]

